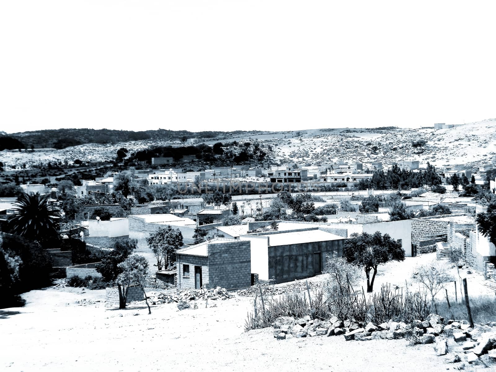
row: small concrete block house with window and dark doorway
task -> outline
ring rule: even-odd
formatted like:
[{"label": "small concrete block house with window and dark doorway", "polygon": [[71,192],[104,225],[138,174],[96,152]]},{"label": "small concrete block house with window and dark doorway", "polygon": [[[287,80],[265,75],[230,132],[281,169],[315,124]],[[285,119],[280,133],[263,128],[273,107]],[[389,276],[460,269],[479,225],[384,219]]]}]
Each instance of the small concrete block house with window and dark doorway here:
[{"label": "small concrete block house with window and dark doorway", "polygon": [[176,252],[178,288],[251,286],[249,241],[216,238]]}]

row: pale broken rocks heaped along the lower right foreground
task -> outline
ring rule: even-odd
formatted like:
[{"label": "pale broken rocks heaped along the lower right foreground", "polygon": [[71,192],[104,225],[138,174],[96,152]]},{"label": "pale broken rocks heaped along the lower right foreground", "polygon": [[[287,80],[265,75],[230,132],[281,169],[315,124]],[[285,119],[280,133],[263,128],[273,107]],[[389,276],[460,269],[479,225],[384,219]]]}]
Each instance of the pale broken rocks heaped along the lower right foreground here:
[{"label": "pale broken rocks heaped along the lower right foreground", "polygon": [[464,369],[467,364],[496,364],[496,322],[471,327],[467,320],[450,319],[444,324],[444,318],[436,314],[409,324],[392,320],[363,324],[341,321],[336,316],[329,320],[282,316],[272,326],[273,335],[278,340],[339,335],[346,341],[406,338],[411,345],[434,344],[436,354],[444,356],[445,363],[460,363],[459,369]]}]

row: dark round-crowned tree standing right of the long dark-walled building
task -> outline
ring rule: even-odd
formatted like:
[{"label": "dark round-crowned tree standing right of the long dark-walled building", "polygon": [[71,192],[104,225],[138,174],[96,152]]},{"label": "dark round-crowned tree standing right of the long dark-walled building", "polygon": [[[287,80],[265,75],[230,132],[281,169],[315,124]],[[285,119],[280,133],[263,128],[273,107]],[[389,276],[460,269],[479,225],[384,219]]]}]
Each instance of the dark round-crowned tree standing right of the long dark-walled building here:
[{"label": "dark round-crowned tree standing right of the long dark-walled building", "polygon": [[378,231],[374,234],[353,233],[345,241],[343,257],[348,262],[364,269],[367,277],[367,292],[372,292],[377,266],[391,260],[403,261],[405,251],[401,248],[401,243],[391,239],[389,234],[381,235]]}]

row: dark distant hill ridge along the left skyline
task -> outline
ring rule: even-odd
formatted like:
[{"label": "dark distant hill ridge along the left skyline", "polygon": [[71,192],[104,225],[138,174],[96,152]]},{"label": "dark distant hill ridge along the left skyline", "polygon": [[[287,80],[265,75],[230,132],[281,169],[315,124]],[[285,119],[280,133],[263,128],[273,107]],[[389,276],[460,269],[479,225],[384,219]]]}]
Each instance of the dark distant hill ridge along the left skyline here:
[{"label": "dark distant hill ridge along the left skyline", "polygon": [[114,130],[114,129],[45,129],[11,133],[9,137],[22,142],[26,147],[33,145],[35,148],[57,148],[62,149],[69,146],[77,146],[86,143],[111,144],[142,139],[157,139],[175,141],[186,136],[187,138],[215,138],[217,136],[237,136],[247,133],[263,133],[259,130],[246,131],[235,130],[232,132],[201,131],[190,132],[188,130]]}]

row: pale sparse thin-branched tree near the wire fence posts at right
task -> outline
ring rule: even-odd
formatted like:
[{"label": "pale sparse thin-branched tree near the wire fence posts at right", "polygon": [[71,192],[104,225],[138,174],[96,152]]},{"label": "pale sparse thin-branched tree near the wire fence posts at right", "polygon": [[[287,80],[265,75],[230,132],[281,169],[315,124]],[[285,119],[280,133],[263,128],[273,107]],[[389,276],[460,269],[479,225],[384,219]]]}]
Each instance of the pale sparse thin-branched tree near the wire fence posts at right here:
[{"label": "pale sparse thin-branched tree near the wire fence posts at right", "polygon": [[449,273],[449,266],[438,260],[418,266],[412,274],[412,279],[417,283],[424,284],[427,290],[431,293],[431,299],[434,303],[434,308],[437,313],[437,306],[435,305],[434,297],[443,289],[447,283],[455,280]]}]

